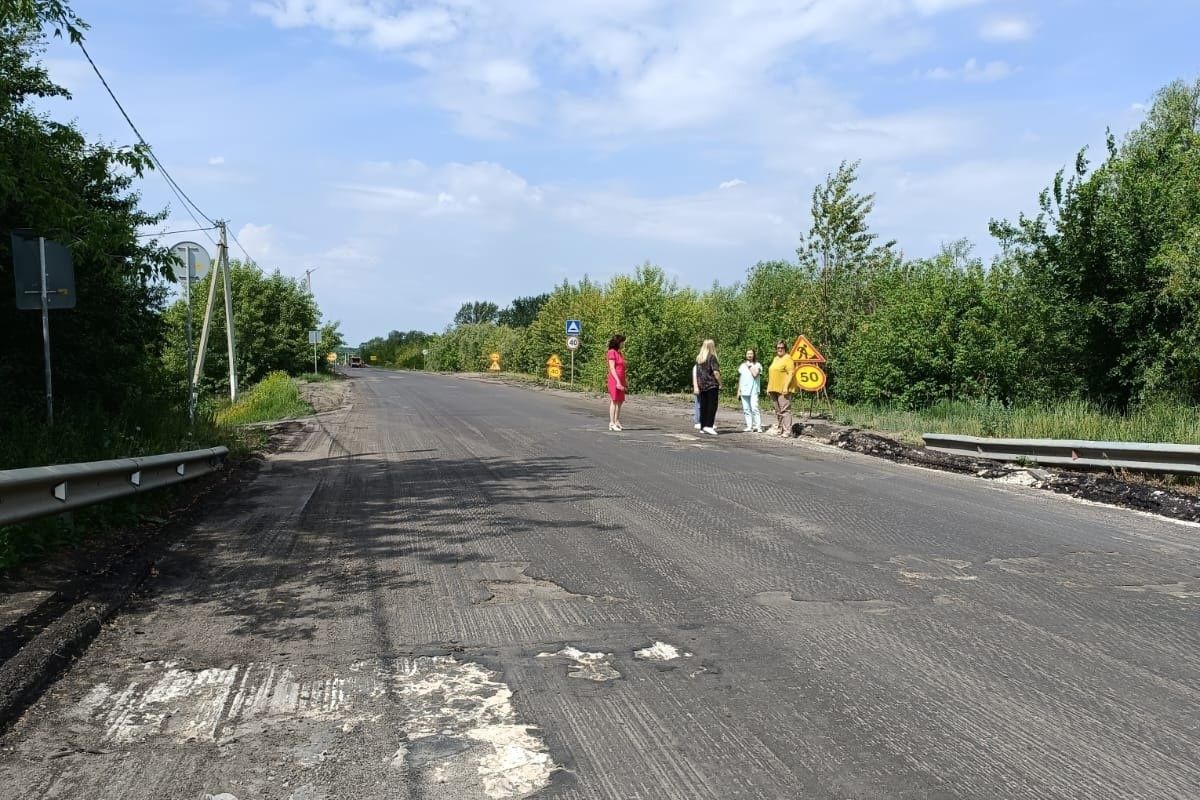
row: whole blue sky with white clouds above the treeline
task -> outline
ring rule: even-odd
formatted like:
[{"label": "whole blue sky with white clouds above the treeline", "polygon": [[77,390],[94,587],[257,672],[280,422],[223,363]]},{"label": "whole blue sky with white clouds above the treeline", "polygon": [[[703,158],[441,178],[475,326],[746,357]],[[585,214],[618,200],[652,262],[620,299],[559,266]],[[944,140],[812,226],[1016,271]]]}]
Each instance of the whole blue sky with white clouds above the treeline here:
[{"label": "whole blue sky with white clouds above the treeline", "polygon": [[[1200,74],[1196,0],[73,7],[176,180],[262,265],[319,267],[350,342],[646,260],[732,283],[793,257],[844,158],[906,255],[989,255],[990,217],[1032,211],[1081,145]],[[73,94],[55,116],[131,140],[77,50],[46,62]],[[160,178],[140,188],[192,225]]]}]

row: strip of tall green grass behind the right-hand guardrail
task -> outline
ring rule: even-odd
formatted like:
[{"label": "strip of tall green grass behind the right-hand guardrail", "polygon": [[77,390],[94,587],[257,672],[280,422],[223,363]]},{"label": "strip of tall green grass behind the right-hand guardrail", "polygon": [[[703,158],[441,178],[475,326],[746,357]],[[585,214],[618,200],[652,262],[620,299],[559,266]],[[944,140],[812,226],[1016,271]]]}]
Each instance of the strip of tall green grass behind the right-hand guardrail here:
[{"label": "strip of tall green grass behind the right-hand guardrail", "polygon": [[[803,410],[806,405],[798,402],[793,408]],[[842,425],[887,431],[914,444],[920,441],[922,433],[1200,444],[1200,413],[1183,404],[1159,403],[1127,414],[1082,401],[1028,407],[942,402],[917,411],[835,403],[834,409],[835,421]]]}]

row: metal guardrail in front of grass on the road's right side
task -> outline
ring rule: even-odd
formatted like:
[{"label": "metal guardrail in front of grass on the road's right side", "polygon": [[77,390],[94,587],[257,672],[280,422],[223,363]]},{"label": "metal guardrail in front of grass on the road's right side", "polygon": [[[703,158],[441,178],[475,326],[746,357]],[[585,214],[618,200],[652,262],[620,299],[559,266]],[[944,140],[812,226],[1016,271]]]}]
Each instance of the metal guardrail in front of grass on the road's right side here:
[{"label": "metal guardrail in front of grass on the road's right side", "polygon": [[983,439],[941,433],[925,433],[922,438],[930,450],[971,458],[1032,462],[1051,467],[1200,475],[1200,445],[1075,439]]}]

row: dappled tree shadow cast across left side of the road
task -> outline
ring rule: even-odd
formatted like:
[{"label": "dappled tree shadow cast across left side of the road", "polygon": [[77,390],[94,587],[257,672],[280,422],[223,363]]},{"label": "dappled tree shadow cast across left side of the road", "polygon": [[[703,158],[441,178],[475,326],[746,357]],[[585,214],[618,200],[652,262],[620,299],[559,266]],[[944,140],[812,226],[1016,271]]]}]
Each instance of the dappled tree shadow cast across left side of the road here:
[{"label": "dappled tree shadow cast across left side of the road", "polygon": [[430,567],[497,560],[491,540],[619,530],[547,510],[602,497],[578,471],[550,457],[277,463],[166,559],[154,597],[134,606],[204,603],[236,620],[230,633],[310,640],[323,622],[384,614],[380,597],[430,584]]}]

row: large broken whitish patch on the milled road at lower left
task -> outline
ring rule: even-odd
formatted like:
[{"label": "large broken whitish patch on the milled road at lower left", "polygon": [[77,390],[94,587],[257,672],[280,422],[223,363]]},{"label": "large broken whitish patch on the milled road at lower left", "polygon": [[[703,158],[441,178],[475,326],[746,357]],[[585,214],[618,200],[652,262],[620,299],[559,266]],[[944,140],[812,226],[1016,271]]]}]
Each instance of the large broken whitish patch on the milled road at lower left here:
[{"label": "large broken whitish patch on the milled road at lower left", "polygon": [[475,662],[401,658],[316,676],[298,669],[149,662],[124,686],[94,686],[71,716],[96,726],[102,742],[263,739],[288,746],[301,768],[323,763],[341,734],[367,726],[372,736],[395,738],[384,763],[438,800],[524,796],[548,786],[557,769],[538,729],[517,718],[512,690]]}]

